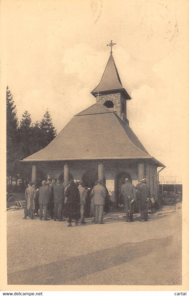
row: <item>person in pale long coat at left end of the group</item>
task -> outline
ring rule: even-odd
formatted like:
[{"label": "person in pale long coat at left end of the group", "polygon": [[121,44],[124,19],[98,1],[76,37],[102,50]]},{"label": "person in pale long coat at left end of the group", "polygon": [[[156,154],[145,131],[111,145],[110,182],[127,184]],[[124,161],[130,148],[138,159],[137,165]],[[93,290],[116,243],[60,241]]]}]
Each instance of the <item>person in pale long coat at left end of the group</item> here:
[{"label": "person in pale long coat at left end of the group", "polygon": [[34,183],[29,183],[28,187],[25,191],[25,197],[26,197],[26,204],[24,209],[24,220],[27,218],[27,214],[30,214],[31,219],[33,220],[33,212],[35,209],[35,196],[36,196],[36,190],[33,187]]}]

